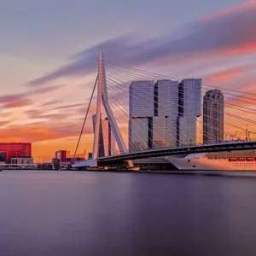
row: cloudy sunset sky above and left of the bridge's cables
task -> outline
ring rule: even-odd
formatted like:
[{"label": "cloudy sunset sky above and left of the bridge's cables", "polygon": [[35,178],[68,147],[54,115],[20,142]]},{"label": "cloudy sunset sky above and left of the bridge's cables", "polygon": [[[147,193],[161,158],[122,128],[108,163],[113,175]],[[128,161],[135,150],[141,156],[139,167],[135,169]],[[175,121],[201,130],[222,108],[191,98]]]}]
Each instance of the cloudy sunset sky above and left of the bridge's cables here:
[{"label": "cloudy sunset sky above and left of the bridge's cables", "polygon": [[[74,151],[100,50],[116,65],[256,93],[255,1],[0,0],[0,32],[0,140],[31,142],[36,161]],[[88,126],[80,153],[91,138]]]}]

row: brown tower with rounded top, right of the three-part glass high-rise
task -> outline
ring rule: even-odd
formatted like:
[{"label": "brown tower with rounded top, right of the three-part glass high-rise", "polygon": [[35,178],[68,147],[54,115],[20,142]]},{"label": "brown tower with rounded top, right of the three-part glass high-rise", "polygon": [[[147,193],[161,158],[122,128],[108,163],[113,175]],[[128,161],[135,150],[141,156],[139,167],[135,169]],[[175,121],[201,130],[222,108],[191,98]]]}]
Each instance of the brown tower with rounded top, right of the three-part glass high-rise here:
[{"label": "brown tower with rounded top, right of the three-part glass high-rise", "polygon": [[208,90],[203,103],[203,142],[224,140],[224,94],[221,90]]}]

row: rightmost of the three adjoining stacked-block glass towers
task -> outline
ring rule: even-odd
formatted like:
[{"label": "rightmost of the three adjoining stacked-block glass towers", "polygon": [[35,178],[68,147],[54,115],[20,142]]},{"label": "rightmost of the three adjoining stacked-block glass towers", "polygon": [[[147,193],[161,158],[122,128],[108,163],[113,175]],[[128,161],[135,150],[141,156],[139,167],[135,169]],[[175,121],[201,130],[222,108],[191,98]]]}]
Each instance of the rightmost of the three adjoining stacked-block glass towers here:
[{"label": "rightmost of the three adjoining stacked-block glass towers", "polygon": [[201,116],[201,79],[183,79],[178,86],[179,146],[196,144],[197,118]]}]

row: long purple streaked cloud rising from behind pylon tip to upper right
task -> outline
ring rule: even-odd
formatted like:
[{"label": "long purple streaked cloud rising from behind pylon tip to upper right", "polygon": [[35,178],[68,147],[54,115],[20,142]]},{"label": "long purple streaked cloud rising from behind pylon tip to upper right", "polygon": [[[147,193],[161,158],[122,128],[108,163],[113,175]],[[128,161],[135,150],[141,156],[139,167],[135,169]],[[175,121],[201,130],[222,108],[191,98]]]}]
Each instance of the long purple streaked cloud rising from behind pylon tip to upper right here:
[{"label": "long purple streaked cloud rising from behind pylon tip to upper right", "polygon": [[72,61],[28,84],[44,84],[61,77],[78,76],[96,71],[99,51],[115,64],[140,65],[154,61],[188,59],[199,55],[238,55],[255,51],[256,2],[241,3],[209,15],[186,27],[179,35],[134,42],[134,35],[125,35],[84,49]]}]

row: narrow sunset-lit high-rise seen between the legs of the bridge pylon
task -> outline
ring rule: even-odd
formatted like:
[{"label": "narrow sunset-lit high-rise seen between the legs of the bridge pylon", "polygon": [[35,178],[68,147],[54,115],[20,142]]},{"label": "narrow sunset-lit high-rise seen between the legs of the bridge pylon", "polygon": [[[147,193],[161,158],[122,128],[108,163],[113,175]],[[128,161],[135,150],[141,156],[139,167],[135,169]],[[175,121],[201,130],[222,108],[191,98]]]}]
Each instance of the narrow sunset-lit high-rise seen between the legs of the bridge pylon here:
[{"label": "narrow sunset-lit high-rise seen between the legs of the bridge pylon", "polygon": [[102,136],[105,156],[115,154],[115,139],[108,118],[102,120]]}]

